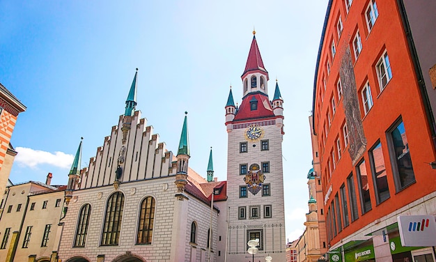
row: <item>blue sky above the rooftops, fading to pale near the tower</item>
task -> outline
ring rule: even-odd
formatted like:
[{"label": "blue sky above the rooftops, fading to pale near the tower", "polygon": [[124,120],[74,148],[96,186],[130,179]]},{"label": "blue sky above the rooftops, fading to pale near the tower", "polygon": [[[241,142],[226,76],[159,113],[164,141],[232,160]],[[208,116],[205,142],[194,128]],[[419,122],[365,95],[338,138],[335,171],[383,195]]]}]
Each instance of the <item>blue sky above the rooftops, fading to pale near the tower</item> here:
[{"label": "blue sky above the rooftops, fading to pale near the tower", "polygon": [[[311,169],[309,115],[327,0],[17,1],[1,0],[0,82],[27,110],[11,143],[13,183],[66,184],[84,137],[81,167],[123,114],[135,68],[137,109],[175,152],[188,111],[189,167],[226,180],[224,106],[256,29],[260,54],[284,103],[286,237],[303,232]],[[270,88],[271,89],[271,88]],[[274,89],[270,90],[272,92]],[[270,93],[272,96],[273,93]]]}]

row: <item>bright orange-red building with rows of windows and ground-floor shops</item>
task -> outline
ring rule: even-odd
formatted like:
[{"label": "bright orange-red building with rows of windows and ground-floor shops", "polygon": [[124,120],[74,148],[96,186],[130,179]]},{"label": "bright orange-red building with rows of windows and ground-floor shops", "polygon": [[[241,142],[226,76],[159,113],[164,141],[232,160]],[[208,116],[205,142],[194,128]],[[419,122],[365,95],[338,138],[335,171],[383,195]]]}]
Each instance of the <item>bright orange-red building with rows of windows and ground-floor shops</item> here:
[{"label": "bright orange-red building with rows of windows and ground-floor shops", "polygon": [[435,122],[401,3],[327,7],[312,132],[331,261],[435,261],[436,244],[403,245],[398,218],[436,215]]}]

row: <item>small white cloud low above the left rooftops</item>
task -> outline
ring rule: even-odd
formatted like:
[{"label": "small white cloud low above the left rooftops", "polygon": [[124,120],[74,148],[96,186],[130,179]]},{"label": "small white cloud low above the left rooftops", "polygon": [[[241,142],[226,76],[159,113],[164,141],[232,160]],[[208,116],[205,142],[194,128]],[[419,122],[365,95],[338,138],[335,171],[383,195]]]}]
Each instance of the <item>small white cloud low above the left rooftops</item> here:
[{"label": "small white cloud low above the left rooftops", "polygon": [[31,168],[36,168],[39,164],[49,164],[54,167],[69,169],[74,160],[74,155],[68,155],[59,151],[50,153],[32,148],[17,147],[15,149],[18,152],[15,162]]}]

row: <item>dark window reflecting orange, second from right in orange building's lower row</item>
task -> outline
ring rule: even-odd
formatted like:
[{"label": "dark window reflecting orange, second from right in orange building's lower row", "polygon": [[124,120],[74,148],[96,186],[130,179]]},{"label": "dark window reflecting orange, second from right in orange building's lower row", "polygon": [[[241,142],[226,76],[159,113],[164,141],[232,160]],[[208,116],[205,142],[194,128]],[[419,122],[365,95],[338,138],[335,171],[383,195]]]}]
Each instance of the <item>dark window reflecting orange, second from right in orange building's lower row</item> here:
[{"label": "dark window reflecting orange, second from right in orange building's lower row", "polygon": [[382,144],[380,141],[368,152],[373,173],[375,199],[377,204],[389,199],[389,186],[387,185],[386,167],[384,165]]}]

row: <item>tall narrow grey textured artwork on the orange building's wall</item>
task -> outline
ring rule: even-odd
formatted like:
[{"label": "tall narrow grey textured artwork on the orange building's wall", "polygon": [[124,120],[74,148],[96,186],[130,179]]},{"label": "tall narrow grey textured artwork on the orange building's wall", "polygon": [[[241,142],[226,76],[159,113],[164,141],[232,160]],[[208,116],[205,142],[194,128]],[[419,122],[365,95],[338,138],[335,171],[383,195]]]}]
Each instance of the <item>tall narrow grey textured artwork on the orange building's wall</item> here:
[{"label": "tall narrow grey textured artwork on the orange building's wall", "polygon": [[352,66],[350,48],[347,47],[339,68],[343,92],[343,109],[345,111],[345,121],[348,129],[348,153],[352,159],[352,164],[356,164],[366,150],[366,137],[364,127],[361,123],[359,108],[359,98],[357,95],[357,85],[355,71]]}]

